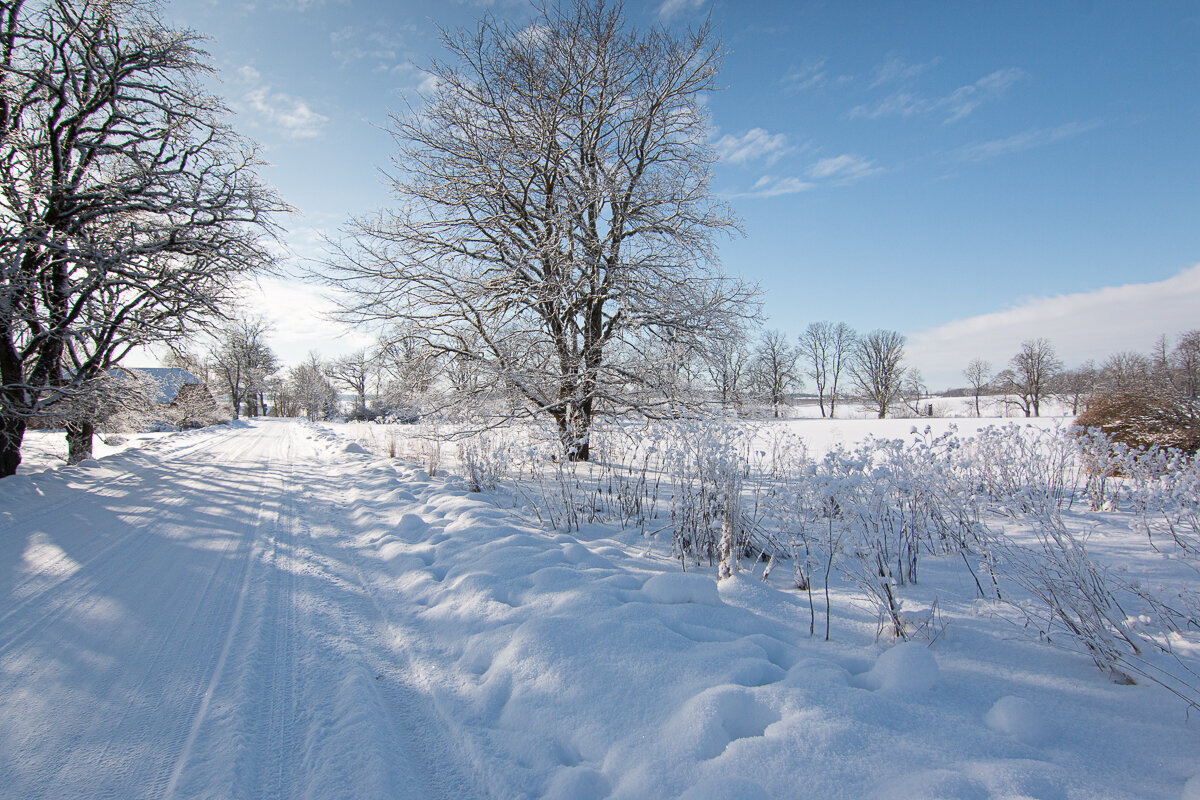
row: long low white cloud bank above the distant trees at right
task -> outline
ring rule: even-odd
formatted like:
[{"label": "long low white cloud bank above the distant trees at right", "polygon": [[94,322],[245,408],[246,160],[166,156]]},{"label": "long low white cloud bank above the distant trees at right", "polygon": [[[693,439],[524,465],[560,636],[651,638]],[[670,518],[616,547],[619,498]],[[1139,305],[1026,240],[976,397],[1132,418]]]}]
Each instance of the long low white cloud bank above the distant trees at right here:
[{"label": "long low white cloud bank above the distant trees at right", "polygon": [[908,337],[908,362],[935,386],[962,385],[971,359],[1000,369],[1022,341],[1045,337],[1058,356],[1075,366],[1102,361],[1121,350],[1148,351],[1198,324],[1200,264],[1152,283],[1129,283],[1091,291],[1032,297],[1006,311],[955,320]]}]

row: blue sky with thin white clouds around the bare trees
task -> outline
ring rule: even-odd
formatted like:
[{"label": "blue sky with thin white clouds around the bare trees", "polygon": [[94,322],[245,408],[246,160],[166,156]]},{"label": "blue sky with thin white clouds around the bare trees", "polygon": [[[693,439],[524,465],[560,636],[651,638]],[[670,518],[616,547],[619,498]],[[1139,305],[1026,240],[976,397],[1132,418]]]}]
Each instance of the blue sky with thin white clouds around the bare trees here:
[{"label": "blue sky with thin white clouds around the bare trees", "polygon": [[[1068,363],[1200,327],[1200,6],[1194,2],[730,2],[625,6],[636,25],[712,12],[728,50],[707,98],[715,188],[743,217],[725,269],[767,325],[844,320],[910,337],[936,387],[1048,336]],[[523,2],[176,0],[211,37],[217,91],[264,172],[320,231],[388,203],[389,112],[440,54],[438,25]],[[320,291],[265,281],[276,349],[361,345]]]}]

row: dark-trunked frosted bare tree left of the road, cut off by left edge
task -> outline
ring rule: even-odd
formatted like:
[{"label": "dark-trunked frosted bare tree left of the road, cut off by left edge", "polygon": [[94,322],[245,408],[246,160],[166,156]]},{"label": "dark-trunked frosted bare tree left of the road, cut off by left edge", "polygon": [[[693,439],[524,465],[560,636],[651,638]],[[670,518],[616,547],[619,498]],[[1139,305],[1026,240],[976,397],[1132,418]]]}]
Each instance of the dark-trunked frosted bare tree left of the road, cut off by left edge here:
[{"label": "dark-trunked frosted bare tree left of the road, cut off by left edge", "polygon": [[[0,6],[0,476],[30,419],[179,338],[268,264],[283,205],[150,2]],[[86,403],[78,402],[76,408]],[[90,452],[91,420],[77,417]]]}]

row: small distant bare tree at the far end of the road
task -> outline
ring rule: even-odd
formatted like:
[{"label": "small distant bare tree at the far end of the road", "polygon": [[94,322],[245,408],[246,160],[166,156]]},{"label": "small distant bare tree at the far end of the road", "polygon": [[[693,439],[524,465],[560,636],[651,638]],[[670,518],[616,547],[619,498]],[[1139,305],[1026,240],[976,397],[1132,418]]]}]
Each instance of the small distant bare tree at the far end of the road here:
[{"label": "small distant bare tree at the far end of the road", "polygon": [[229,397],[233,419],[245,404],[250,416],[265,414],[266,377],[278,369],[278,360],[266,344],[270,326],[262,318],[239,317],[215,332],[209,349],[212,374]]}]

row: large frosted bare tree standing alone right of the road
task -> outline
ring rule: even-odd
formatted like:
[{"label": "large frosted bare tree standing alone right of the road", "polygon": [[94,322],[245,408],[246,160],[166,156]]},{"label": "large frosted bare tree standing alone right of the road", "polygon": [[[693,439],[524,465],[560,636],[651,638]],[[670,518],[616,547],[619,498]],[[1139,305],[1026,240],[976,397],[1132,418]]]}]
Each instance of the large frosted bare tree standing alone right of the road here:
[{"label": "large frosted bare tree standing alone right of the road", "polygon": [[670,410],[646,391],[650,342],[686,347],[752,297],[715,257],[736,230],[702,103],[720,47],[604,0],[444,40],[436,89],[394,119],[397,203],[353,223],[334,279],[350,317],[475,365],[472,386],[515,392],[586,461],[596,414]]}]

